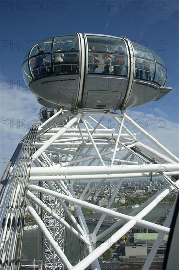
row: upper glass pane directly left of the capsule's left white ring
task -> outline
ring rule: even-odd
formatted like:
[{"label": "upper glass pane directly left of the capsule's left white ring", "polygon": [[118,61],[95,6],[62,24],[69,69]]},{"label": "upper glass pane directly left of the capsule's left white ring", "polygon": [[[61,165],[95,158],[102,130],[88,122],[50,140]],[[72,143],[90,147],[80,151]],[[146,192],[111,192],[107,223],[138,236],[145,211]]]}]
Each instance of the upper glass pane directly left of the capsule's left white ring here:
[{"label": "upper glass pane directly left of the capsule's left white ring", "polygon": [[79,51],[79,39],[78,35],[71,36],[59,36],[55,37],[53,42],[53,52],[56,52],[61,47],[61,51],[70,51],[72,48],[75,51]]}]

